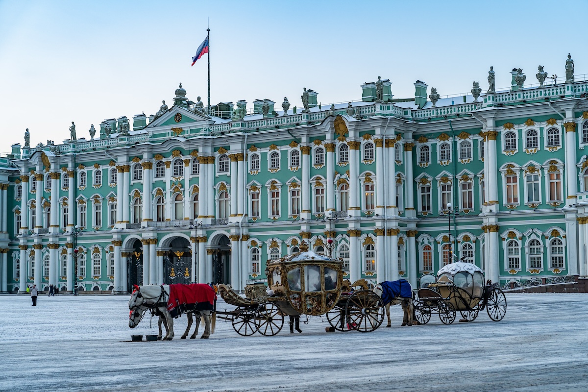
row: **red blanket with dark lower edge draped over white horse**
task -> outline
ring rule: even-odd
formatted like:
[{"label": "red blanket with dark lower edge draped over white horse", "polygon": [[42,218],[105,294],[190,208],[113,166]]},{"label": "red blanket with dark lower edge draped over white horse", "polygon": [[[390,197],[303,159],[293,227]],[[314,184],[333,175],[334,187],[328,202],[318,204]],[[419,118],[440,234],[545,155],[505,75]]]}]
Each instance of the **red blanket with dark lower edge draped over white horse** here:
[{"label": "red blanket with dark lower edge draped over white horse", "polygon": [[190,310],[214,310],[216,294],[208,284],[170,284],[168,311],[172,317]]}]

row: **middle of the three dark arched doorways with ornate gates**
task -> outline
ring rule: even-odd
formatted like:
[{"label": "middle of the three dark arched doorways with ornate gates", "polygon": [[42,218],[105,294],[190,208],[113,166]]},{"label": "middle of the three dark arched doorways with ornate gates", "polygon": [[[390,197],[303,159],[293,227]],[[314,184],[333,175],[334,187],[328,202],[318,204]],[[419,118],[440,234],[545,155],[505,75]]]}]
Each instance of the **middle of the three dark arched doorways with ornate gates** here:
[{"label": "middle of the three dark arched doorways with ornate gates", "polygon": [[163,256],[163,284],[194,282],[192,276],[192,249],[188,240],[175,237]]}]

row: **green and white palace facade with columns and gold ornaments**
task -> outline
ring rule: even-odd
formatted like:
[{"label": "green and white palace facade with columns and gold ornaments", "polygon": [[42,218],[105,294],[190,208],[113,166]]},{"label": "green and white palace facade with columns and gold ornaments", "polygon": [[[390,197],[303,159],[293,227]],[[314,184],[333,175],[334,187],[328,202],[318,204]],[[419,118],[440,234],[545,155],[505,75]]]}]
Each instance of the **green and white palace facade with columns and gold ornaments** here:
[{"label": "green and white palace facade with columns and gold ornaments", "polygon": [[502,284],[585,276],[588,81],[526,87],[515,74],[506,91],[475,83],[455,98],[417,81],[415,98],[395,99],[379,80],[330,108],[309,90],[285,111],[205,110],[180,86],[132,126],[14,145],[0,158],[0,291],[242,289],[302,241],[352,282],[416,287],[453,257]]}]

